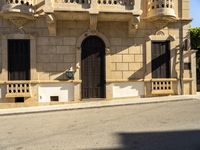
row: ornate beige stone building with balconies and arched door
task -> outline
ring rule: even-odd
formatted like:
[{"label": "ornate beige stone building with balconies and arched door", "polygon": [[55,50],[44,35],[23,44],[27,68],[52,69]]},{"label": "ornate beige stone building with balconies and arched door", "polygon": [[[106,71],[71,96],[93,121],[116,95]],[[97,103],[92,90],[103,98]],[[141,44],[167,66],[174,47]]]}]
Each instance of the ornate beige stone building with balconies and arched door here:
[{"label": "ornate beige stone building with balconies and arched door", "polygon": [[1,0],[0,9],[0,102],[196,93],[189,0]]}]

